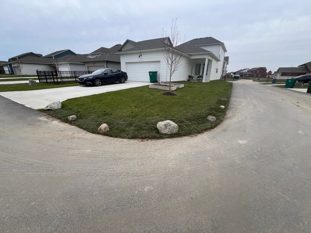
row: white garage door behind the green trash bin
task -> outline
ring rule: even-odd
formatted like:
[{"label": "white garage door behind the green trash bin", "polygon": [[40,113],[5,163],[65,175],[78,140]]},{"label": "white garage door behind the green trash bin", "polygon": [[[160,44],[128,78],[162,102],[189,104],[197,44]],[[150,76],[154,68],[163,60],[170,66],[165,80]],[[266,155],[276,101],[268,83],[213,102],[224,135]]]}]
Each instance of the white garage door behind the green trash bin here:
[{"label": "white garage door behind the green trash bin", "polygon": [[160,79],[160,61],[126,62],[125,66],[129,81],[149,82],[149,71],[158,71],[157,79]]}]

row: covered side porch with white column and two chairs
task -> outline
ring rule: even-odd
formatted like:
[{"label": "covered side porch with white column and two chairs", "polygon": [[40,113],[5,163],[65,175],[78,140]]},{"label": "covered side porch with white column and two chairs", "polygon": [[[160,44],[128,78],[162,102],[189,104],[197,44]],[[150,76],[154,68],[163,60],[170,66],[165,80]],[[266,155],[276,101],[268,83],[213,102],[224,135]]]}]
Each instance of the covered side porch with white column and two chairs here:
[{"label": "covered side porch with white column and two chairs", "polygon": [[202,82],[209,82],[212,58],[210,56],[202,57],[202,55],[193,55],[189,58],[189,61],[191,66],[190,75],[194,77],[194,81],[198,81],[197,77],[202,75]]}]

